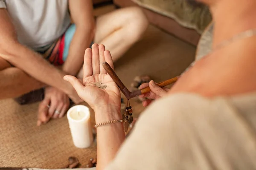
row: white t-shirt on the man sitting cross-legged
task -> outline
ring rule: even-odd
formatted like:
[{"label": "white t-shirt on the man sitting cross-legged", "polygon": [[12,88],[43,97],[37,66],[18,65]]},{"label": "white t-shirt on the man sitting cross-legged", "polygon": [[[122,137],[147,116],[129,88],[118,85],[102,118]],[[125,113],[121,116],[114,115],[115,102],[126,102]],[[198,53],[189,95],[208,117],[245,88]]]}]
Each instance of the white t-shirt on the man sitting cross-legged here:
[{"label": "white t-shirt on the man sitting cross-legged", "polygon": [[15,26],[18,41],[30,48],[49,45],[70,25],[68,0],[0,0]]}]

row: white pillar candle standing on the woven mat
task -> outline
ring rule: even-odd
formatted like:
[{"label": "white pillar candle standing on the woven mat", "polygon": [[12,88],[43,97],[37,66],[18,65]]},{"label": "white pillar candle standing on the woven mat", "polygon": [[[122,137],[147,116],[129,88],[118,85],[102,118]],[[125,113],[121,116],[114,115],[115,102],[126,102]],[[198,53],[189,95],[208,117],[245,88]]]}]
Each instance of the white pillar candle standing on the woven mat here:
[{"label": "white pillar candle standing on the woven mat", "polygon": [[73,143],[78,148],[87,148],[93,142],[90,110],[84,105],[76,105],[67,111],[67,119]]}]

